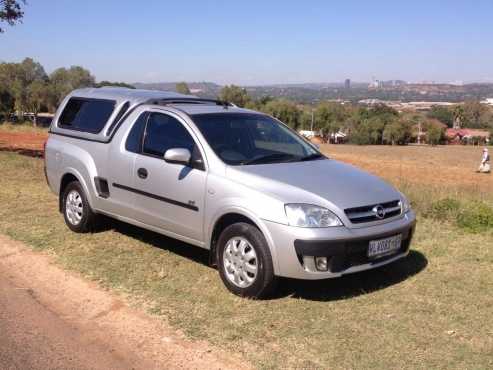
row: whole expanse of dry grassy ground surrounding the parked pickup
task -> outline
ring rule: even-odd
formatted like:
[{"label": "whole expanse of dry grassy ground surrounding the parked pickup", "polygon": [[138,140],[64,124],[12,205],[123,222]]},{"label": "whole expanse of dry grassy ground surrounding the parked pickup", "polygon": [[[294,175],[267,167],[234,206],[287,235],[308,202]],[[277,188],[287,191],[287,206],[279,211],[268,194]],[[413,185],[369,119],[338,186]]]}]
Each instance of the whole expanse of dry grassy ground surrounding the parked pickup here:
[{"label": "whole expanse of dry grassy ground surrounding the parked pickup", "polygon": [[323,150],[411,195],[419,222],[408,258],[337,280],[283,280],[267,301],[237,298],[198,248],[117,222],[71,233],[42,160],[13,153],[0,153],[0,233],[259,368],[492,368],[493,232],[472,233],[430,213],[437,198],[493,204],[491,176],[474,173],[480,151]]}]

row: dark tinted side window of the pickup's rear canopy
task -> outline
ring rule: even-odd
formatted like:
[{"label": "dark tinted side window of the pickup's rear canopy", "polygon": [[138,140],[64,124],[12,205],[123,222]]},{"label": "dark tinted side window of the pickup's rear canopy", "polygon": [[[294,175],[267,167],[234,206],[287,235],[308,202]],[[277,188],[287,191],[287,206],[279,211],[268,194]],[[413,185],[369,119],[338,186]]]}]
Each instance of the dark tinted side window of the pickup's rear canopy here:
[{"label": "dark tinted side window of the pickup's rear canopy", "polygon": [[106,125],[114,109],[113,100],[71,98],[58,120],[58,125],[66,129],[98,133]]}]

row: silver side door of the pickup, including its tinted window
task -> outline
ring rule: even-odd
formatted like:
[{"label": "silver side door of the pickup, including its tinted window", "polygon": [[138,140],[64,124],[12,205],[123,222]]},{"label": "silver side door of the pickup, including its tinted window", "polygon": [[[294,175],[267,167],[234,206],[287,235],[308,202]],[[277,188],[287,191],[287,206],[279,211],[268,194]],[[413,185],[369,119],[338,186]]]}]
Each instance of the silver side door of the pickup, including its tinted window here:
[{"label": "silver side door of the pickup, including its tinted window", "polygon": [[[172,148],[190,150],[191,165],[166,162],[164,153]],[[134,166],[136,219],[203,242],[206,178],[188,127],[170,114],[151,113]]]}]

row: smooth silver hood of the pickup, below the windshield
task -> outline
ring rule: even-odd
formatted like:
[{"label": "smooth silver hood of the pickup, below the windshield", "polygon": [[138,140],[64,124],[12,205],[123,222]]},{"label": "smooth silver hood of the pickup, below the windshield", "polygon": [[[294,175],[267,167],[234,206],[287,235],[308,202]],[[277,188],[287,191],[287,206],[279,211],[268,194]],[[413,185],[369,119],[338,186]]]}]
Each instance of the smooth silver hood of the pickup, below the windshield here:
[{"label": "smooth silver hood of the pickup, below the windshield", "polygon": [[228,177],[286,203],[341,210],[400,199],[380,178],[332,159],[229,167]]}]

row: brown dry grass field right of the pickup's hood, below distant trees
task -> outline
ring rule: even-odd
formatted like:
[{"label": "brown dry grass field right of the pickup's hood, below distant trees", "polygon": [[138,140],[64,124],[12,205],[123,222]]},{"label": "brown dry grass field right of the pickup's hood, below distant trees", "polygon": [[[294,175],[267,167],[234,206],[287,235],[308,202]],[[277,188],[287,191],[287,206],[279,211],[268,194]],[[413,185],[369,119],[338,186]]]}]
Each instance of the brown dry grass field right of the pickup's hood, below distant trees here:
[{"label": "brown dry grass field right of the pickup's hood, below distant trees", "polygon": [[382,176],[398,187],[411,184],[444,189],[458,196],[486,198],[493,193],[493,176],[476,173],[482,147],[323,145],[322,151]]}]

